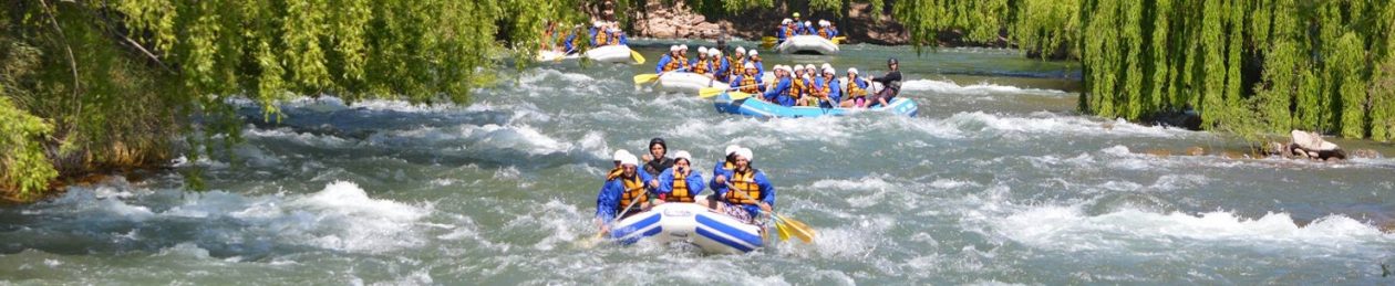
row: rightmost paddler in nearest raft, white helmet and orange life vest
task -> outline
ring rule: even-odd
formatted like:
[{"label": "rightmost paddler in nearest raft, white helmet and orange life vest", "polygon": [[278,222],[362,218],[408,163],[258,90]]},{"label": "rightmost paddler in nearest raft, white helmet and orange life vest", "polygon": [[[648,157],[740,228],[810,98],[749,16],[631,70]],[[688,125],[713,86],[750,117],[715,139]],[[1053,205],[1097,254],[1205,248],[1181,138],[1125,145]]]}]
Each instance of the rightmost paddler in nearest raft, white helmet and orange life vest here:
[{"label": "rightmost paddler in nearest raft, white helmet and orange life vest", "polygon": [[738,218],[755,221],[762,212],[774,211],[776,186],[764,172],[752,167],[751,149],[737,151],[737,162],[725,183],[713,183],[713,200],[725,203],[724,211]]}]

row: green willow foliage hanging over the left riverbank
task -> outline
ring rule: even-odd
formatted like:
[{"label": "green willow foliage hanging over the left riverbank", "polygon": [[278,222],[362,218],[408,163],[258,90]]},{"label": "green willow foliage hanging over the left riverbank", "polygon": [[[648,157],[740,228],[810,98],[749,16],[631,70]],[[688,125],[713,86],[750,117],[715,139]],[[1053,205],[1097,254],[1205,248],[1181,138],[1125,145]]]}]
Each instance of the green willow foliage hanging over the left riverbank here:
[{"label": "green willow foliage hanging over the left riverbank", "polygon": [[466,103],[505,51],[533,51],[518,47],[536,47],[544,19],[585,17],[579,0],[3,6],[0,187],[11,197],[59,174],[163,165],[174,150],[236,142],[232,97],[259,103],[262,119],[294,94]]}]

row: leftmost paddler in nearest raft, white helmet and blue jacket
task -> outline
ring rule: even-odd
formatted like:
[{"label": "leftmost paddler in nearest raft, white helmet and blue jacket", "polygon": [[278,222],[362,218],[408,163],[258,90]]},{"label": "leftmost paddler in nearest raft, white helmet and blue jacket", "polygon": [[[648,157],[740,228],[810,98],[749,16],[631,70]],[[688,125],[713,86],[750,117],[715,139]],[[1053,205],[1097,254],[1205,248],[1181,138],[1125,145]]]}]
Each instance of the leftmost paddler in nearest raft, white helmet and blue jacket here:
[{"label": "leftmost paddler in nearest raft, white helmet and blue jacket", "polygon": [[646,175],[639,172],[639,158],[629,153],[615,153],[619,161],[619,174],[607,175],[605,185],[596,196],[596,224],[601,233],[608,233],[614,221],[638,214],[650,207],[649,186],[657,186],[654,180],[646,186]]}]

